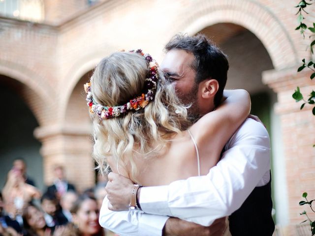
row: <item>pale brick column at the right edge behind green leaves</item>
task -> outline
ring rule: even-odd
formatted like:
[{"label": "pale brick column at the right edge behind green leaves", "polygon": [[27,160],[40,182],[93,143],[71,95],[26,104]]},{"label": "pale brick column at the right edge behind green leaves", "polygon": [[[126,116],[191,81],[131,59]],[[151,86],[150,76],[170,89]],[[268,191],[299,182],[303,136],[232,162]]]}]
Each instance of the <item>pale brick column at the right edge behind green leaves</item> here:
[{"label": "pale brick column at the right edge behind green leaves", "polygon": [[[303,200],[303,192],[308,192],[310,200],[315,199],[315,116],[311,110],[313,106],[305,105],[301,111],[302,102],[296,103],[292,98],[292,93],[298,86],[307,99],[315,88],[315,81],[310,79],[311,72],[306,70],[297,73],[297,68],[298,65],[263,73],[263,82],[278,96],[275,111],[281,117],[288,191],[288,196],[283,198],[288,198],[290,225],[299,224],[306,219],[299,214],[303,210],[308,212],[311,219],[315,218],[309,207],[298,204]],[[288,230],[285,235],[295,235],[294,229]]]}]

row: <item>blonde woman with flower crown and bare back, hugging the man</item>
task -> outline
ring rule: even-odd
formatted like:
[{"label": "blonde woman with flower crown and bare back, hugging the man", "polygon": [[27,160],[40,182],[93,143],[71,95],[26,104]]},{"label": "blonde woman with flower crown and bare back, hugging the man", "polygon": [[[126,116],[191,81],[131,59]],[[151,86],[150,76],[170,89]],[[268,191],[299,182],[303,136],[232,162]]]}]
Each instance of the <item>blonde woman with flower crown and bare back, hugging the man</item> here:
[{"label": "blonde woman with flower crown and bare back, hugging the man", "polygon": [[[192,123],[191,107],[180,102],[158,64],[141,50],[102,59],[85,90],[98,168],[144,186],[206,175],[251,106],[247,91],[224,91],[221,105]],[[109,218],[110,212],[101,211],[102,226],[115,232]]]}]

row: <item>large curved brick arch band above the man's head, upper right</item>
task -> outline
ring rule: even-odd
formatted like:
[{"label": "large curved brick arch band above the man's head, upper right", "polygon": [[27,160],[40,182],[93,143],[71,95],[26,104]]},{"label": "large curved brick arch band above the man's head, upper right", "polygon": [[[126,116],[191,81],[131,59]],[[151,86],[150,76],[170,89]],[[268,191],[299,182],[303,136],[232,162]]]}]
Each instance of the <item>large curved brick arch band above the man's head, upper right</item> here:
[{"label": "large curved brick arch band above the man's head, upper right", "polygon": [[184,21],[177,25],[176,31],[193,35],[212,25],[233,23],[256,35],[267,49],[275,69],[298,63],[297,51],[287,30],[266,6],[250,0],[202,0],[191,9],[190,15],[185,12],[185,15],[178,17]]}]

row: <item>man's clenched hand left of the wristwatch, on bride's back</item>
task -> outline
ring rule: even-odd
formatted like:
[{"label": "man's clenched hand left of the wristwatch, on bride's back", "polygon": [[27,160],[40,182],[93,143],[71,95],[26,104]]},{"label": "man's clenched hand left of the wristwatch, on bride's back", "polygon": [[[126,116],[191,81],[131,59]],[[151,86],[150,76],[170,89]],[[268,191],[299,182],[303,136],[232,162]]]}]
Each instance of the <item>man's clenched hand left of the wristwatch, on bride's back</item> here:
[{"label": "man's clenched hand left of the wristwatch, on bride's back", "polygon": [[130,194],[133,189],[133,182],[113,172],[108,174],[108,182],[105,187],[109,200],[108,209],[127,210],[130,203]]}]

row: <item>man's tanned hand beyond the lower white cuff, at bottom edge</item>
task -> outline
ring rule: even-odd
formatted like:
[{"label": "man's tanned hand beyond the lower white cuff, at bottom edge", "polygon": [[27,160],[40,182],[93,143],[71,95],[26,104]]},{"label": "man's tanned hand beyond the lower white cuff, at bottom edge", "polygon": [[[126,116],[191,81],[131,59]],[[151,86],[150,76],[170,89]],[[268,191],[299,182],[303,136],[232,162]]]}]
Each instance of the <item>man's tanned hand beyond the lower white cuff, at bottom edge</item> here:
[{"label": "man's tanned hand beyond the lower white cuff, at bottom edge", "polygon": [[163,236],[222,236],[225,228],[225,217],[208,227],[171,217],[165,223]]}]

